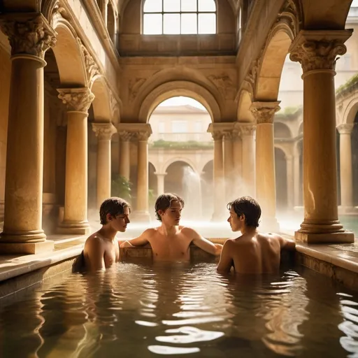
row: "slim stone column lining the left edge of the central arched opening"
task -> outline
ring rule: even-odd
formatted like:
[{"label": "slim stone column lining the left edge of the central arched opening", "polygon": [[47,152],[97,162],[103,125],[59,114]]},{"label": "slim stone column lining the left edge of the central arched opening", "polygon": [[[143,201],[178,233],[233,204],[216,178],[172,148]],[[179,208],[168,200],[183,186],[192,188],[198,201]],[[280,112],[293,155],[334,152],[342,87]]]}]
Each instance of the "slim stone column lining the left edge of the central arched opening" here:
[{"label": "slim stone column lining the left edge of the central arched opening", "polygon": [[148,211],[148,138],[151,133],[150,129],[134,133],[138,141],[137,205],[134,220],[138,222],[150,221]]}]

